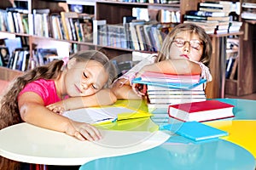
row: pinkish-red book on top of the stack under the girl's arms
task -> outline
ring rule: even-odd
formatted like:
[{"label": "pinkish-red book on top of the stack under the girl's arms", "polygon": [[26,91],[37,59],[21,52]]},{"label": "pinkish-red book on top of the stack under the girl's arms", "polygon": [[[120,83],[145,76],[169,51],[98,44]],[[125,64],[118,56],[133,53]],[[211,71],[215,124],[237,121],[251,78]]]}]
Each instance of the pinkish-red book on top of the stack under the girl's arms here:
[{"label": "pinkish-red book on top of the stack under the girl's arms", "polygon": [[146,71],[141,76],[142,81],[148,82],[183,82],[183,83],[194,83],[200,81],[200,75],[177,75],[177,74],[166,74],[160,72]]}]

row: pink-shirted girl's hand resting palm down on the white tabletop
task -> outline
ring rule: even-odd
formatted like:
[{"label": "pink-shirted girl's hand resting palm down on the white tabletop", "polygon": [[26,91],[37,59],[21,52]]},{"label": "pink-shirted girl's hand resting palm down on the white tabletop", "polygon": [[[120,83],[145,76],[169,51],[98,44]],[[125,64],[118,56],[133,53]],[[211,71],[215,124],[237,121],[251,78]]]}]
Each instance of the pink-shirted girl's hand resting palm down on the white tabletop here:
[{"label": "pink-shirted girl's hand resting palm down on the white tabletop", "polygon": [[72,127],[67,127],[66,133],[68,135],[74,136],[79,140],[95,141],[102,139],[102,135],[96,127],[85,122],[70,121]]}]

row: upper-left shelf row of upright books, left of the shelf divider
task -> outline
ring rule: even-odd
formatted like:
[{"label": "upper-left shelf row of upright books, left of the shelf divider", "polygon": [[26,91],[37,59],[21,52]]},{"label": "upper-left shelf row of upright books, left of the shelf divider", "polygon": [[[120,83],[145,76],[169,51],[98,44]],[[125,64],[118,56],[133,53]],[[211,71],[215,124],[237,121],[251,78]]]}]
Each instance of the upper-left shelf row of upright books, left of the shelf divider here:
[{"label": "upper-left shelf row of upright books, left of the shelf divider", "polygon": [[32,14],[18,8],[0,10],[0,31],[39,37],[92,42],[93,15],[76,12],[50,14],[49,8],[33,9]]}]

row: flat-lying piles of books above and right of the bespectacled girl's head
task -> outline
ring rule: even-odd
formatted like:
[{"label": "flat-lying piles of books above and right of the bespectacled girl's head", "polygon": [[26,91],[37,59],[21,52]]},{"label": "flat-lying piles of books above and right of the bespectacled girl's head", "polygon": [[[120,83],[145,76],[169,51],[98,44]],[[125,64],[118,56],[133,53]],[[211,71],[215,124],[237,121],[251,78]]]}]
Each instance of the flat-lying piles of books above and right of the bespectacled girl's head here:
[{"label": "flat-lying piles of books above and right of the bespectacled girl's head", "polygon": [[[240,31],[242,22],[230,15],[236,10],[232,2],[203,2],[198,10],[189,10],[184,15],[184,23],[194,23],[201,26],[209,34],[230,33]],[[235,14],[236,12],[233,11]]]}]

